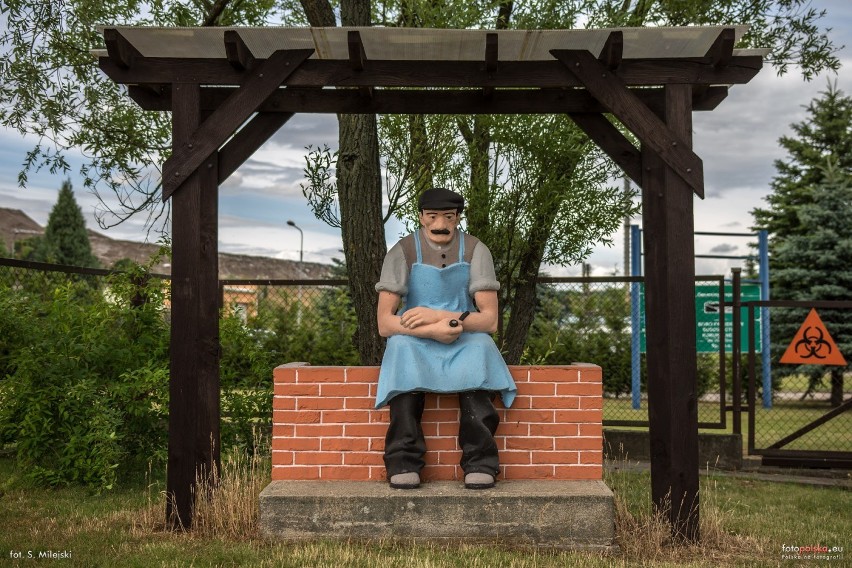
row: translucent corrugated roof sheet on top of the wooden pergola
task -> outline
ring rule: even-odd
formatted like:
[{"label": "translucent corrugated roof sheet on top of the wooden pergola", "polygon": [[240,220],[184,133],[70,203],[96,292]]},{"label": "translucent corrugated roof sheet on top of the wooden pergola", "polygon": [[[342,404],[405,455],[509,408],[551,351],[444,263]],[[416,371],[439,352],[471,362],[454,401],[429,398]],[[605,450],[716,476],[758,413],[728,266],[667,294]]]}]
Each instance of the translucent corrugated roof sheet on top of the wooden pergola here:
[{"label": "translucent corrugated roof sheet on top of the wooden pergola", "polygon": [[[103,31],[107,26],[100,26]],[[236,30],[255,57],[279,49],[314,49],[319,59],[349,59],[349,30],[358,30],[367,59],[483,61],[485,36],[498,35],[500,61],[547,61],[551,49],[586,49],[600,55],[610,32],[624,34],[624,59],[702,57],[722,26],[593,30],[448,30],[429,28],[145,28],[118,27],[146,57],[224,58],[225,30]],[[736,26],[736,38],[746,26]],[[95,52],[105,55],[103,50]]]}]

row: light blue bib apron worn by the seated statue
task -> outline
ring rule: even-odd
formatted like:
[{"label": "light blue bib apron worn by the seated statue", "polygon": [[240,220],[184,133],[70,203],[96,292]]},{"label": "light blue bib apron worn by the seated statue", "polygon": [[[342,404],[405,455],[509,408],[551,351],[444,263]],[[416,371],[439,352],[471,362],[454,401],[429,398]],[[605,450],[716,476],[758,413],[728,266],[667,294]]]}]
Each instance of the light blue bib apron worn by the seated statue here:
[{"label": "light blue bib apron worn by the seated statue", "polygon": [[[464,262],[464,235],[459,232],[458,238],[459,262],[438,268],[423,264],[419,231],[414,235],[417,262],[408,277],[406,309],[425,306],[459,313],[476,310],[468,292],[470,264]],[[405,392],[470,390],[499,392],[507,408],[515,399],[515,382],[487,333],[463,332],[449,345],[402,334],[388,338],[379,372],[376,408]]]}]

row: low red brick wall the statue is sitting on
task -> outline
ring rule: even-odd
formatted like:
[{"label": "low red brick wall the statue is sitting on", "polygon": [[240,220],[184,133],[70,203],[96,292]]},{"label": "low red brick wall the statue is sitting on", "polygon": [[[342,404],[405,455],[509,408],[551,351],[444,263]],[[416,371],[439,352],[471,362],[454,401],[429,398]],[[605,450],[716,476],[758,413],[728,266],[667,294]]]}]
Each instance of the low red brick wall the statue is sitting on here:
[{"label": "low red brick wall the statue is sitting on", "polygon": [[[510,367],[512,408],[499,402],[502,479],[601,479],[601,369]],[[373,408],[378,367],[281,366],[274,373],[272,479],[384,480],[388,409]],[[462,479],[458,398],[427,394],[425,480]]]}]

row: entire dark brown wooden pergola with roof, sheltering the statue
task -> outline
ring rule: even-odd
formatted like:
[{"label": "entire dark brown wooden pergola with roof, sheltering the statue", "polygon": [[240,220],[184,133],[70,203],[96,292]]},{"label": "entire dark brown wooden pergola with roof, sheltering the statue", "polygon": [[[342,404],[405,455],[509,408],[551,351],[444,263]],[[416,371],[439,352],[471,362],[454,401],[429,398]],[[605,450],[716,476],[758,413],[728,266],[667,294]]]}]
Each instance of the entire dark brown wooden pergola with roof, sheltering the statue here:
[{"label": "entire dark brown wooden pergola with roof, sheltering the statue", "polygon": [[191,524],[196,475],[219,460],[218,186],[297,112],[566,113],[642,189],[652,496],[698,537],[692,112],[760,70],[765,50],[734,49],[743,27],[101,31],[101,70],[172,112],[173,522]]}]

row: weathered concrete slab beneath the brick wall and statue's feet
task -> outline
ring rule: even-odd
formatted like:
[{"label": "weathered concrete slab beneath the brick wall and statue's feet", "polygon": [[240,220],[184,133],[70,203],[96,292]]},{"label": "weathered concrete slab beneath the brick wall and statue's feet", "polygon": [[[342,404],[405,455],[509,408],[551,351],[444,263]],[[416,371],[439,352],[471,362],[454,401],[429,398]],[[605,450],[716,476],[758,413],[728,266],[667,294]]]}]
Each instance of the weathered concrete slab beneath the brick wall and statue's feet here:
[{"label": "weathered concrete slab beneath the brick wall and statue's feet", "polygon": [[273,481],[260,494],[261,531],[305,540],[481,541],[609,549],[612,491],[602,481],[500,481],[465,489],[435,481],[391,489],[375,481]]}]

